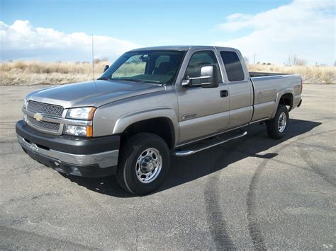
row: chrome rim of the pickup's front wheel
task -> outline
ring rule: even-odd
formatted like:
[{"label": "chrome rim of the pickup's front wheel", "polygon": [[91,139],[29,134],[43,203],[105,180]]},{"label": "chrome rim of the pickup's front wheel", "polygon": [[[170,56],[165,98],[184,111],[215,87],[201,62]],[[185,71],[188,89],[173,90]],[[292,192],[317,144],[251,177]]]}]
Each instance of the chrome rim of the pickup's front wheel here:
[{"label": "chrome rim of the pickup's front wheel", "polygon": [[162,168],[162,156],[155,148],[142,151],[135,163],[135,174],[142,183],[150,183],[157,178]]}]

